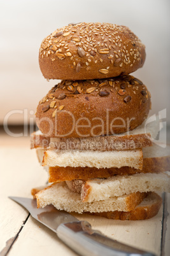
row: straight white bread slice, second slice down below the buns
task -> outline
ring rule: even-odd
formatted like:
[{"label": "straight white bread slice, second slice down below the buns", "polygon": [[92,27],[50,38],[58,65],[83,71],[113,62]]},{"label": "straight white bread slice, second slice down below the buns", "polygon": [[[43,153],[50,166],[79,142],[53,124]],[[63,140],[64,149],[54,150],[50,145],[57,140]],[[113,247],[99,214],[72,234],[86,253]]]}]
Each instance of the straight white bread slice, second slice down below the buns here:
[{"label": "straight white bread slice, second slice down below the buns", "polygon": [[79,151],[79,150],[46,150],[43,166],[71,166],[110,168],[130,166],[136,169],[143,167],[143,152],[138,150],[124,151]]}]

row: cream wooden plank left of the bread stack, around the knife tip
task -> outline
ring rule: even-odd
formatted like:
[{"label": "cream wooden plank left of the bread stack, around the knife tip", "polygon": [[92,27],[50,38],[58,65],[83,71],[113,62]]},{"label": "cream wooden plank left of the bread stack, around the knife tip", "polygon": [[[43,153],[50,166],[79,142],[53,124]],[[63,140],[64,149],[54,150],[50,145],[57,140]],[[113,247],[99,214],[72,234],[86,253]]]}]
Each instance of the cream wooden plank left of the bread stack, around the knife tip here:
[{"label": "cream wooden plank left of the bread stack, around the knife tip", "polygon": [[0,252],[19,231],[28,212],[8,196],[31,197],[31,188],[45,183],[47,174],[29,148],[0,148]]}]

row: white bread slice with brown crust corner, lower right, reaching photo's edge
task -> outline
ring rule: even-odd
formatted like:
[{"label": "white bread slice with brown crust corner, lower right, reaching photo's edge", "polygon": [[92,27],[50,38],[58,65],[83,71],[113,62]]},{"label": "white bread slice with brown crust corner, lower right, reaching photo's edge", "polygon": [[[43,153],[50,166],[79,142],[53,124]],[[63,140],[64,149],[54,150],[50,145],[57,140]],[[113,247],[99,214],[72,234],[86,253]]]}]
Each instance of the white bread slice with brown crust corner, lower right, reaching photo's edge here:
[{"label": "white bread slice with brown crust corner, lower right, reaching photo's edge", "polygon": [[106,179],[96,178],[79,182],[77,185],[76,182],[76,180],[66,181],[71,190],[81,192],[81,200],[83,202],[101,201],[113,196],[136,192],[170,192],[170,175],[166,173],[116,175]]}]

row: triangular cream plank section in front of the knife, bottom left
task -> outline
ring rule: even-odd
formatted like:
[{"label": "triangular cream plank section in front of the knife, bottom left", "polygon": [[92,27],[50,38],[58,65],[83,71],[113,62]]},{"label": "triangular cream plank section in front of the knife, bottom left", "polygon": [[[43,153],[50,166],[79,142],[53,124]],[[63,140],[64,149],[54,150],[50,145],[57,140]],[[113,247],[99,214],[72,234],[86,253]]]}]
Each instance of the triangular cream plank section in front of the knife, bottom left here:
[{"label": "triangular cream plank section in front of the knife, bottom left", "polygon": [[53,231],[30,217],[8,255],[75,256],[76,253],[64,245]]}]

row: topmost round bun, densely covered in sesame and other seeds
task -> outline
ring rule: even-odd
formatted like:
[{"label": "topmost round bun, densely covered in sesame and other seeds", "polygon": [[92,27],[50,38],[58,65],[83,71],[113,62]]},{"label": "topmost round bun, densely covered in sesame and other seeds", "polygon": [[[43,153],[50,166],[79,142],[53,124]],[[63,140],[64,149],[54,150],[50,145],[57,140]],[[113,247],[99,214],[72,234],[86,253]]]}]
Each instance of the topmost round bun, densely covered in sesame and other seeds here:
[{"label": "topmost round bun, densely covered in sesame and other seeds", "polygon": [[109,78],[141,68],[145,55],[145,45],[128,27],[69,24],[43,40],[39,67],[47,79]]}]

